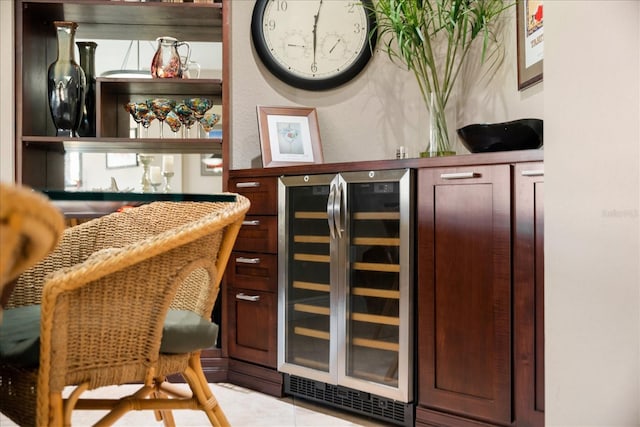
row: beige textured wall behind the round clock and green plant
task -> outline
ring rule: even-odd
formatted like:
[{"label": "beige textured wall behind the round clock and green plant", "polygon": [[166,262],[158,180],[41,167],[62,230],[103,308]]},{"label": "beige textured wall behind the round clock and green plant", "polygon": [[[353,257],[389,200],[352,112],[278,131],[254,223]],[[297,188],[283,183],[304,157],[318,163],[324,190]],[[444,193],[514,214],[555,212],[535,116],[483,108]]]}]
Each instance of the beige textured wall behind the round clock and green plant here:
[{"label": "beige textured wall behind the round clock and green plant", "polygon": [[[232,167],[260,163],[257,105],[315,107],[325,162],[395,158],[405,146],[417,157],[427,144],[428,114],[413,75],[376,52],[355,80],[337,89],[309,92],[287,86],[273,77],[256,56],[250,35],[253,1],[232,3]],[[492,96],[475,92],[458,114],[458,126],[543,118],[543,84],[517,90],[515,65],[515,8],[505,17],[505,62],[495,79]],[[489,106],[489,107],[487,107]],[[456,151],[464,153],[461,145]]]}]

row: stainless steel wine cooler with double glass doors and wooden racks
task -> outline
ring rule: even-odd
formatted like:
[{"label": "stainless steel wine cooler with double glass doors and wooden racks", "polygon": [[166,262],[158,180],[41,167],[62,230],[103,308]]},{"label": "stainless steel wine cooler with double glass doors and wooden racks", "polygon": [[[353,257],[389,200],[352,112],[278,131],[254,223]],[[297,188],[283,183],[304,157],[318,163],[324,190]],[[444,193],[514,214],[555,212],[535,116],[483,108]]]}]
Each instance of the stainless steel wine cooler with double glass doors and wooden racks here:
[{"label": "stainless steel wine cooler with double glass doors and wooden racks", "polygon": [[279,183],[285,391],[413,425],[410,170]]}]

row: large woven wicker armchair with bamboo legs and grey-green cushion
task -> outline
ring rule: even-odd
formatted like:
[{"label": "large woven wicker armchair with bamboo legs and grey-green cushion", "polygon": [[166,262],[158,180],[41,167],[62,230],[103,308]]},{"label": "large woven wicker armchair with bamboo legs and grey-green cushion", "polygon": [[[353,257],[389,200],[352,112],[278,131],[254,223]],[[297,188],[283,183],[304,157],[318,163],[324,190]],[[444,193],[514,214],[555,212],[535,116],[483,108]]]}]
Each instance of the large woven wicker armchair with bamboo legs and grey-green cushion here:
[{"label": "large woven wicker armchair with bamboo legs and grey-green cushion", "polygon": [[[217,329],[206,343],[183,337],[202,341],[199,331],[211,332],[248,208],[240,195],[225,203],[155,202],[65,230],[60,245],[20,276],[5,311],[3,327],[13,310],[39,306],[39,360],[35,367],[24,356],[0,361],[0,410],[20,425],[43,426],[70,425],[74,409],[109,410],[96,425],[150,409],[172,425],[170,410],[189,408],[205,411],[214,426],[228,425],[200,366]],[[177,332],[168,326],[172,313],[179,314]],[[170,336],[173,344],[165,342]],[[165,381],[176,373],[191,393]],[[127,383],[141,388],[119,400],[81,398]],[[63,398],[67,386],[77,387]]]}]

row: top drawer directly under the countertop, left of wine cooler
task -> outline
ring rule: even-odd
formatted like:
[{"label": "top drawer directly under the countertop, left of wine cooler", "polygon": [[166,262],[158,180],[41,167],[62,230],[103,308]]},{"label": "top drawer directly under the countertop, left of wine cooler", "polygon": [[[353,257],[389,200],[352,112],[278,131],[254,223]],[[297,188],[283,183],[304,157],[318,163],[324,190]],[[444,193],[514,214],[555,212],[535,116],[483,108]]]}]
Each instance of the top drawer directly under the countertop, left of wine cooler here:
[{"label": "top drawer directly under the countertop, left of wine cooler", "polygon": [[268,178],[231,178],[229,191],[240,193],[251,201],[248,215],[276,215],[278,213],[278,181]]}]

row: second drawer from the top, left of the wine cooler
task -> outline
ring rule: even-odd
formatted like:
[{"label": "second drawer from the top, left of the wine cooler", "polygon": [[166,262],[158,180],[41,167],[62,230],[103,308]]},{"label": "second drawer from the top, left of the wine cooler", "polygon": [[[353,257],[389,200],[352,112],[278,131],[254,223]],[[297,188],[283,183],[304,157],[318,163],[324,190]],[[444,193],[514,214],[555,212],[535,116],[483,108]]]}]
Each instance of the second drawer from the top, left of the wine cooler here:
[{"label": "second drawer from the top, left of the wine cooler", "polygon": [[278,217],[248,216],[238,233],[235,250],[248,252],[278,252]]}]

